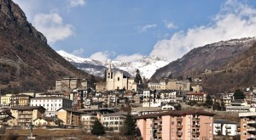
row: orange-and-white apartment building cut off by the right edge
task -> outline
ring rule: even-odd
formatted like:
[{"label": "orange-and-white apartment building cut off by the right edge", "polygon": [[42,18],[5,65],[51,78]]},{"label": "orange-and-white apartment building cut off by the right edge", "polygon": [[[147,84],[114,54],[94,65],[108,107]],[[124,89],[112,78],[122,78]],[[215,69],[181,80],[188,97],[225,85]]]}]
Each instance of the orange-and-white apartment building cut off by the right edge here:
[{"label": "orange-and-white apartment building cut off by the right edge", "polygon": [[241,140],[256,139],[256,112],[239,113]]}]

